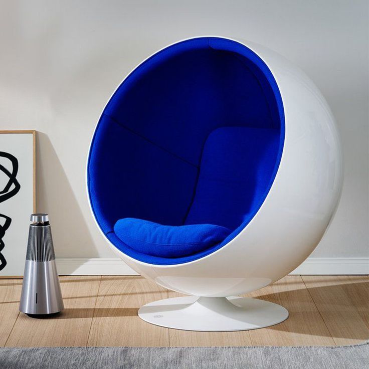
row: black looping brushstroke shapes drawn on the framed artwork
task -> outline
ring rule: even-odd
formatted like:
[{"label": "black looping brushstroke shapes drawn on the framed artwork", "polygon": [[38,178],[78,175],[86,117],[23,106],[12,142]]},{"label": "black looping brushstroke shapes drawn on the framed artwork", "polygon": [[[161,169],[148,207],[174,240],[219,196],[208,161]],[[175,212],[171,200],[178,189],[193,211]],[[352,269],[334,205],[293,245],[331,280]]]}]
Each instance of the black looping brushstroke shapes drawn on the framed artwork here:
[{"label": "black looping brushstroke shapes drawn on the framed artwork", "polygon": [[[0,164],[0,173],[3,172],[8,177],[4,189],[0,191],[0,203],[3,203],[4,201],[7,201],[13,196],[17,195],[21,189],[21,185],[17,180],[18,159],[14,155],[4,151],[0,151],[0,157],[5,157],[6,159],[10,160],[12,164],[11,170],[8,170],[4,165]],[[0,224],[0,271],[2,271],[7,265],[7,260],[2,254],[2,250],[5,247],[3,237],[12,223],[12,219],[10,217],[0,214],[0,220],[2,218],[5,219],[5,222],[3,225]]]}]

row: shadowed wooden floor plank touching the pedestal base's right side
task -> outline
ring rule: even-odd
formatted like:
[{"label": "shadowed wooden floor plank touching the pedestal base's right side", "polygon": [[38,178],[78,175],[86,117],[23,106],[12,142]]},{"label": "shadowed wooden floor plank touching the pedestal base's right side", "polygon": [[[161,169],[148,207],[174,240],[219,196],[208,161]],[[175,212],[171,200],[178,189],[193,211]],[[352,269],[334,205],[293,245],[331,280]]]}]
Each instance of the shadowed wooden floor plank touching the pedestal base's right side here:
[{"label": "shadowed wooden floor plank touching the pedestal base's right side", "polygon": [[335,345],[300,276],[286,276],[245,296],[280,304],[289,312],[288,319],[280,324],[250,330],[253,345]]}]

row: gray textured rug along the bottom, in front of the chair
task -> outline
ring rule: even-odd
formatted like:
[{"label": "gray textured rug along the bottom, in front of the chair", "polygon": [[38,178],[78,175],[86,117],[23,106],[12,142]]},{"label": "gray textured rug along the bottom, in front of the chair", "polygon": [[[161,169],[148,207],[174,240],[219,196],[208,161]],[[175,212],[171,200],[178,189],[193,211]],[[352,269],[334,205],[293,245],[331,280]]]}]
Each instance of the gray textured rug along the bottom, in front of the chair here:
[{"label": "gray textured rug along the bottom, in front of the chair", "polygon": [[369,342],[339,347],[0,348],[1,369],[369,368]]}]

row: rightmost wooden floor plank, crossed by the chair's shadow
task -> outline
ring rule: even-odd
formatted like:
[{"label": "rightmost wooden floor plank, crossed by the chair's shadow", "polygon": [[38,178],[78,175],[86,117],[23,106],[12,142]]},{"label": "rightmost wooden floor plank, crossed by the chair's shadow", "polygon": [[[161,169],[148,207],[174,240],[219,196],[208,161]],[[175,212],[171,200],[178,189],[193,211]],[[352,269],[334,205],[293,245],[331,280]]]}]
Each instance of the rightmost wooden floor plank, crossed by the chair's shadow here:
[{"label": "rightmost wooden floor plank, crossed by the chair's shadow", "polygon": [[303,276],[337,345],[369,339],[367,282],[356,276]]}]

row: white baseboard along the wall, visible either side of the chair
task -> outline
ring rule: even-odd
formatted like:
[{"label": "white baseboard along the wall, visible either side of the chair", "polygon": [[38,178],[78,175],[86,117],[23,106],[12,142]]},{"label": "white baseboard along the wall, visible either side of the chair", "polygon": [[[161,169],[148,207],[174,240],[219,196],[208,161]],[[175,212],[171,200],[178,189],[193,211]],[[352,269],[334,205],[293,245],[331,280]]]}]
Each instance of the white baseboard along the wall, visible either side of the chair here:
[{"label": "white baseboard along the wall, visible either side of the chair", "polygon": [[[57,259],[61,275],[137,275],[116,258]],[[369,274],[369,258],[308,258],[290,274]]]}]

